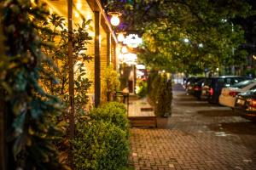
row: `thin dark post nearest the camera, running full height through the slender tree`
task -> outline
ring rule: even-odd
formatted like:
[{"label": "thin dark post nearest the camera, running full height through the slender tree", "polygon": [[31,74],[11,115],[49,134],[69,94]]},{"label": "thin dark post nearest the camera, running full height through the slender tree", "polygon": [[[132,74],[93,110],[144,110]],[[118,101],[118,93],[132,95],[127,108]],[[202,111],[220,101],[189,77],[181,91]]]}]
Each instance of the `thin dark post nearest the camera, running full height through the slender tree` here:
[{"label": "thin dark post nearest the camera, running full height through the slender tree", "polygon": [[[67,2],[68,19],[68,78],[69,78],[69,142],[74,137],[74,81],[73,81],[73,0]],[[73,168],[73,154],[71,143],[68,161]]]}]

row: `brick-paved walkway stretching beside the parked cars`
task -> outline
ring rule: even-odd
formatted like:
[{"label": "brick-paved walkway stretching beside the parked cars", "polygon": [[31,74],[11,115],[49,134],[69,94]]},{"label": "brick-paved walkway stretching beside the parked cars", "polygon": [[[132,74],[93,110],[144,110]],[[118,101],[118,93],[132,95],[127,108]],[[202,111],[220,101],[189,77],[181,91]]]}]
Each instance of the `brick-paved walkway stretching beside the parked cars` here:
[{"label": "brick-paved walkway stretching beside the parked cars", "polygon": [[256,124],[173,88],[168,129],[131,129],[135,169],[256,170]]}]

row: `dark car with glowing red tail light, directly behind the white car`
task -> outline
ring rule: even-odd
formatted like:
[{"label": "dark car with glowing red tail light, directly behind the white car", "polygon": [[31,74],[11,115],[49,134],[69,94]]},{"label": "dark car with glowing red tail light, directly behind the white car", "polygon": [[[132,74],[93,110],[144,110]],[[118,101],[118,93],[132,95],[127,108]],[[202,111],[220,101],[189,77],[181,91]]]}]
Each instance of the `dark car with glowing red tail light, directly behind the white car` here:
[{"label": "dark car with glowing red tail light, directly behind the white car", "polygon": [[230,87],[231,85],[246,80],[246,77],[237,76],[222,76],[210,77],[202,85],[201,99],[207,99],[209,103],[218,104],[218,96],[222,88]]}]

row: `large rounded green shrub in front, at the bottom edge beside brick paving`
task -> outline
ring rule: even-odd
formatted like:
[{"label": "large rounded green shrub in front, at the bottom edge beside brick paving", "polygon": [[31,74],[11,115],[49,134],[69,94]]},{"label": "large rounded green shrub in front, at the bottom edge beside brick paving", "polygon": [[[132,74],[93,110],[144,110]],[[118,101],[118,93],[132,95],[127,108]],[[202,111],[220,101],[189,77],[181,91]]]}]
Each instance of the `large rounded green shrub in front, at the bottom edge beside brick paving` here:
[{"label": "large rounded green shrub in front, at the bottom edge beside brick paving", "polygon": [[119,170],[129,156],[125,131],[111,122],[79,122],[73,140],[75,169]]}]

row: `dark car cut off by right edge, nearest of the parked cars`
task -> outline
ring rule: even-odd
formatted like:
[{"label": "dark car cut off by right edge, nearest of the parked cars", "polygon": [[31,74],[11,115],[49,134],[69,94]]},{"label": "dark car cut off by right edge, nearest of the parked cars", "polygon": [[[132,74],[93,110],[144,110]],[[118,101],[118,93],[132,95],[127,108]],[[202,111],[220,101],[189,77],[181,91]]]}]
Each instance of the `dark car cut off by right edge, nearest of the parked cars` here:
[{"label": "dark car cut off by right edge, nearest of the parked cars", "polygon": [[237,95],[235,112],[246,118],[256,117],[256,89]]}]

